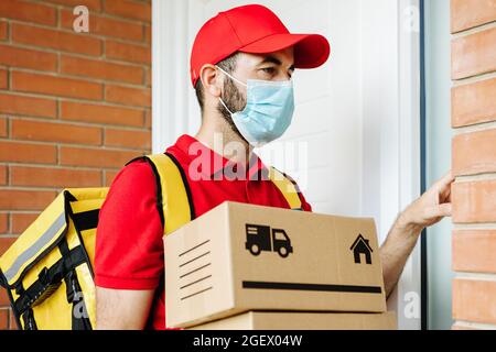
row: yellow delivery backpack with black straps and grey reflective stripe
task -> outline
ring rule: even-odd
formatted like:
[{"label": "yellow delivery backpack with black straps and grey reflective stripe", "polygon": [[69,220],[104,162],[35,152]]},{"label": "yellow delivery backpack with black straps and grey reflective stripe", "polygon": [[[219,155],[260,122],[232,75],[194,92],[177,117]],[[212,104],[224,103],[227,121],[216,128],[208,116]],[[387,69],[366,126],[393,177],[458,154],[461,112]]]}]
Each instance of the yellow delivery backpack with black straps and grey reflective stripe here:
[{"label": "yellow delivery backpack with black straps and grey reflective stripe", "polygon": [[[190,188],[177,161],[170,154],[137,160],[147,161],[155,175],[158,210],[162,223],[166,219],[164,235],[193,220]],[[269,178],[292,209],[301,209],[290,178],[274,168]],[[108,188],[65,189],[0,257],[0,285],[19,329],[95,328],[95,238],[107,193]]]}]

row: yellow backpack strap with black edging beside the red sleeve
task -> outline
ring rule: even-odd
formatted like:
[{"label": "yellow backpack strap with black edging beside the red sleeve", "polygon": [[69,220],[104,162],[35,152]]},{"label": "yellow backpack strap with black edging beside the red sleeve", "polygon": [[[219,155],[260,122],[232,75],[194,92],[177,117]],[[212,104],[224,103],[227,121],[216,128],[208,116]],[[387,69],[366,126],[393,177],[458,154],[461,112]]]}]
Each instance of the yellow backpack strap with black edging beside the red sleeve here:
[{"label": "yellow backpack strap with black edging beside the red sleeve", "polygon": [[193,198],[186,175],[177,160],[168,153],[142,156],[140,160],[147,161],[155,175],[157,208],[164,234],[194,220]]}]

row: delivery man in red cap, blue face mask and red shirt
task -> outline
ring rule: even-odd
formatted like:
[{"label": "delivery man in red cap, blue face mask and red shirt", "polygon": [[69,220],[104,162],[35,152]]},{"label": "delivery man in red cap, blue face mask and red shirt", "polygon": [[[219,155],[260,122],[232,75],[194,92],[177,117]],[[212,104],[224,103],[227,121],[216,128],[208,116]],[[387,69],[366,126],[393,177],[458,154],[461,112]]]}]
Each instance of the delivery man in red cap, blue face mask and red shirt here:
[{"label": "delivery man in red cap, blue face mask and red shirt", "polygon": [[[261,6],[219,13],[202,28],[191,58],[202,127],[195,138],[183,135],[168,148],[185,170],[197,216],[226,200],[289,208],[277,187],[259,177],[267,168],[252,147],[278,139],[290,125],[293,72],[323,65],[330,52],[323,36],[289,34]],[[218,138],[244,152],[226,152]],[[198,151],[212,162],[204,169],[193,167]],[[228,167],[244,177],[216,177]],[[163,227],[153,177],[148,164],[129,164],[101,209],[95,257],[98,329],[165,328]],[[451,175],[438,182],[391,228],[380,249],[387,295],[422,229],[451,216],[452,182]],[[302,210],[311,211],[299,197]]]}]

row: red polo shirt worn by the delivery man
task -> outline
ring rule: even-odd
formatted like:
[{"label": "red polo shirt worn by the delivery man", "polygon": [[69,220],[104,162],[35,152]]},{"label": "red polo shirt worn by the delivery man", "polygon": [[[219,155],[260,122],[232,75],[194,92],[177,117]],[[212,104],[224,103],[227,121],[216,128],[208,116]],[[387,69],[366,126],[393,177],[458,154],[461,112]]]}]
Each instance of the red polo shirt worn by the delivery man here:
[{"label": "red polo shirt worn by the delivery man", "polygon": [[[245,170],[246,165],[231,164],[188,135],[181,136],[168,152],[185,170],[197,217],[224,201],[290,208],[279,189],[263,177],[267,167],[255,154]],[[245,177],[233,177],[233,170]],[[226,176],[219,177],[223,172]],[[155,195],[154,175],[145,162],[131,163],[116,176],[99,215],[95,253],[97,286],[144,290],[161,285],[163,227]],[[303,210],[311,211],[304,197],[300,195],[300,198]],[[161,294],[153,302],[150,322],[153,329],[165,329],[164,290],[159,289]]]}]

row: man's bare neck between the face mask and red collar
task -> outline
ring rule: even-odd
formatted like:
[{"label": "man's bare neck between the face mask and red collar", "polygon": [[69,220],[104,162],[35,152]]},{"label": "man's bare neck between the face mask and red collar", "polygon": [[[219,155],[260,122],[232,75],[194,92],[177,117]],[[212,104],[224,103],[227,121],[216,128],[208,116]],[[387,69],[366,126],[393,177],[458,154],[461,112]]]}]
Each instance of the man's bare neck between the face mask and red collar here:
[{"label": "man's bare neck between the face mask and red collar", "polygon": [[195,139],[234,163],[247,164],[254,148],[222,117],[208,120],[216,123],[203,123]]}]

